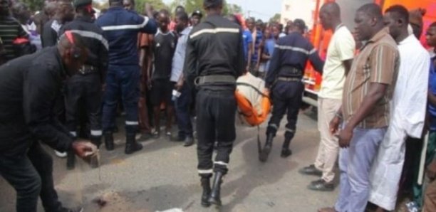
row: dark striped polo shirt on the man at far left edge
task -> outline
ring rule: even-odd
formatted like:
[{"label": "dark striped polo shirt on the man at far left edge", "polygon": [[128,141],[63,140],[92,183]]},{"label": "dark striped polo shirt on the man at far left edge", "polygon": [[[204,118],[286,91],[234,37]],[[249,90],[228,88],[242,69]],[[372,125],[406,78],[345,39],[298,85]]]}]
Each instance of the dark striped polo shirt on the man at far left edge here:
[{"label": "dark striped polo shirt on the man at far left edge", "polygon": [[15,18],[6,17],[0,19],[0,38],[3,41],[4,50],[6,52],[6,61],[18,57],[14,50],[13,42],[16,38],[28,38],[28,34],[23,27],[16,21]]}]

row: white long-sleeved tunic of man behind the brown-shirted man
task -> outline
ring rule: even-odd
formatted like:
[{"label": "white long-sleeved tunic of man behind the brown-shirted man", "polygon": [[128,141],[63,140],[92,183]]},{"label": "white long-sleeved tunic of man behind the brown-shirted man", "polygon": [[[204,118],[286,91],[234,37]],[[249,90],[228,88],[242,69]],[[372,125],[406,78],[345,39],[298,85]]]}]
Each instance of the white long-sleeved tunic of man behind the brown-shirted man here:
[{"label": "white long-sleeved tunic of man behind the brown-shirted man", "polygon": [[391,100],[391,120],[420,138],[427,107],[430,54],[412,34],[398,44],[400,69]]}]

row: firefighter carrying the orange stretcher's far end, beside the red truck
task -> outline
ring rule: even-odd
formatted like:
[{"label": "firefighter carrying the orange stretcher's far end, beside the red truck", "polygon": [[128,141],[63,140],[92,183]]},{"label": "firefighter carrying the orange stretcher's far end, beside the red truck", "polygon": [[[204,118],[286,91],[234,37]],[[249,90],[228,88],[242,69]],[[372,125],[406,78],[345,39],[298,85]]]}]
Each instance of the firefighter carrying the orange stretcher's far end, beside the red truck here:
[{"label": "firefighter carrying the orange stretcher's far end, beside the red truck", "polygon": [[289,157],[292,154],[289,144],[296,131],[296,122],[302,102],[304,85],[301,80],[304,68],[309,60],[316,71],[321,73],[323,70],[324,63],[319,58],[318,51],[303,37],[305,30],[306,23],[301,19],[296,19],[291,27],[291,33],[277,41],[271,58],[265,87],[268,91],[272,91],[274,107],[266,129],[265,147],[259,155],[259,160],[262,162],[268,159],[273,139],[286,111],[288,123],[281,157]]}]

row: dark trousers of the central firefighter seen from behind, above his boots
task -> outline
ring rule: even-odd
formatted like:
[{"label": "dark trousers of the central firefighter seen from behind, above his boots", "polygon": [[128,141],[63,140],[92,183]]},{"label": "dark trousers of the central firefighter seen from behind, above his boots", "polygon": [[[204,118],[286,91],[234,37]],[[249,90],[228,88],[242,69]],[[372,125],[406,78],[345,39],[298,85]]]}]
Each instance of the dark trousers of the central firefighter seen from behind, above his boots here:
[{"label": "dark trousers of the central firefighter seen from behind, above his boots", "polygon": [[[227,164],[236,138],[236,109],[233,90],[200,89],[197,93],[197,168],[200,176],[212,176],[213,171],[227,174]],[[218,142],[217,157],[212,162],[215,141]]]}]

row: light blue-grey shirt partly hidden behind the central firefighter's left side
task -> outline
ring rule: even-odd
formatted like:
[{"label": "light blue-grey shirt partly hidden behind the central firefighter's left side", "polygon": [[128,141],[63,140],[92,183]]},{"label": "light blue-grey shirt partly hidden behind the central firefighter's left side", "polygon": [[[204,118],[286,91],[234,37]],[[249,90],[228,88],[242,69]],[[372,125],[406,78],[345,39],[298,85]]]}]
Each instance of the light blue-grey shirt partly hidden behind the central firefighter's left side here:
[{"label": "light blue-grey shirt partly hidden behind the central firefighter's left side", "polygon": [[186,53],[186,44],[188,38],[190,38],[190,32],[192,27],[187,27],[180,33],[180,37],[177,40],[177,46],[174,53],[174,57],[172,57],[172,70],[171,70],[171,81],[176,82],[179,80],[180,75],[183,72],[183,65],[185,65],[185,53]]}]

